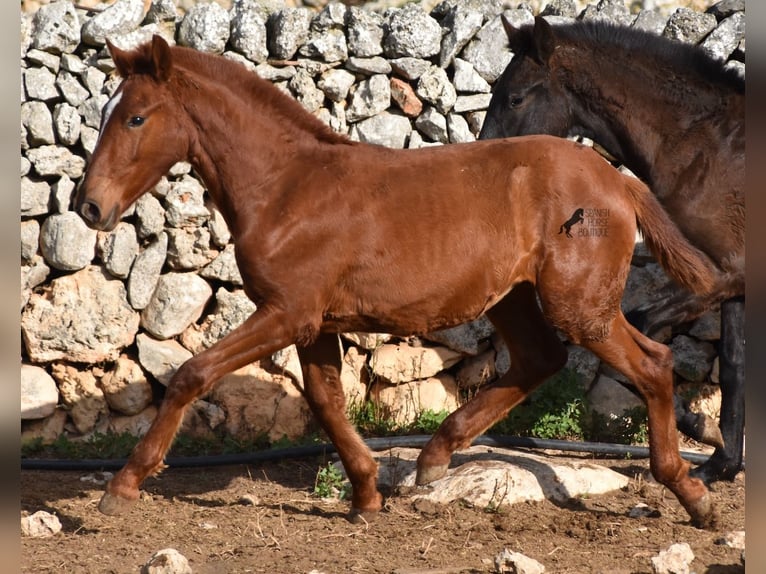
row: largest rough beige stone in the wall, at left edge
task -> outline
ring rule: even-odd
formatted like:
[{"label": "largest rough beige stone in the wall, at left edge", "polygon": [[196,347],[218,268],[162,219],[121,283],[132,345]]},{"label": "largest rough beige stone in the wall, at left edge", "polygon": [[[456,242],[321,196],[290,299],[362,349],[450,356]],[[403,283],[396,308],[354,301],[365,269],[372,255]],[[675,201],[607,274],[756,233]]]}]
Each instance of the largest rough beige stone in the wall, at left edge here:
[{"label": "largest rough beige stone in the wall, at left edge", "polygon": [[89,266],[33,294],[21,328],[34,362],[99,363],[116,359],[133,342],[138,314],[128,305],[121,281]]}]

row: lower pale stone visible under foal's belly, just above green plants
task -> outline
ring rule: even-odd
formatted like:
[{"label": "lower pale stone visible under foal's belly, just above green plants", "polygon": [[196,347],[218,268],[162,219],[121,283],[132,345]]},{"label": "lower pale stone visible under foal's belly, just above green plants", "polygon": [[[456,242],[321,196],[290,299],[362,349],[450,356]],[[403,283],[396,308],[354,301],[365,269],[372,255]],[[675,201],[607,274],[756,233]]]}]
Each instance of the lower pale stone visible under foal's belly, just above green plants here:
[{"label": "lower pale stone visible under foal's belly, just above green plants", "polygon": [[426,411],[452,412],[459,405],[457,384],[448,373],[393,385],[378,381],[370,388],[370,397],[386,419],[401,426],[414,423]]}]

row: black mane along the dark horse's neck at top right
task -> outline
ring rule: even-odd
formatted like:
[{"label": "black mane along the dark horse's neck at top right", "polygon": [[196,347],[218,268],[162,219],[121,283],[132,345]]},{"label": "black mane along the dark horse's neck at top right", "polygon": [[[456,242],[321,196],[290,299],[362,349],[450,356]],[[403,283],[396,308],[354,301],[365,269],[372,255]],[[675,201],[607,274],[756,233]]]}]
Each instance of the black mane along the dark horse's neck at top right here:
[{"label": "black mane along the dark horse's neck at top right", "polygon": [[[529,30],[531,33],[531,27]],[[608,53],[621,53],[626,58],[661,61],[681,74],[696,74],[707,82],[721,84],[736,92],[745,92],[745,80],[736,70],[726,68],[724,61],[711,57],[693,44],[604,21],[556,25],[554,33],[566,43],[593,45],[600,50],[607,48]]]}]

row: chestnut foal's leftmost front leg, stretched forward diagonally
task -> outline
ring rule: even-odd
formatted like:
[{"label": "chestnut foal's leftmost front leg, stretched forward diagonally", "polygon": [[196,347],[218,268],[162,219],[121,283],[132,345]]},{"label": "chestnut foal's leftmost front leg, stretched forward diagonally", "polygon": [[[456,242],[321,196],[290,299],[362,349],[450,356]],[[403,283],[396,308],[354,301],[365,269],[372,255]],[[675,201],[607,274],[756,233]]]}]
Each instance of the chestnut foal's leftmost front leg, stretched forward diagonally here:
[{"label": "chestnut foal's leftmost front leg, stretched forward diagonally", "polygon": [[186,407],[224,375],[290,345],[295,321],[286,313],[264,307],[209,349],[186,361],[168,384],[165,398],[149,431],[133,449],[125,466],[112,478],[99,510],[120,514],[139,496],[144,479],[164,468],[163,459],[183,420]]}]

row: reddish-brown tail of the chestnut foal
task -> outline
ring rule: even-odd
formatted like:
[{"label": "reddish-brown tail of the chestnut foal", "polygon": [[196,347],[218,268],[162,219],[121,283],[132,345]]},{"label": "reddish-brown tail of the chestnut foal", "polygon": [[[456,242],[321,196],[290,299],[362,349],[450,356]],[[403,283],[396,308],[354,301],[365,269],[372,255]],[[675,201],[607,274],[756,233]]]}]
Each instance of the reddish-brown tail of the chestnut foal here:
[{"label": "reddish-brown tail of the chestnut foal", "polygon": [[643,182],[628,175],[624,178],[638,229],[657,261],[683,287],[698,294],[709,293],[716,276],[711,259],[689,243]]}]

